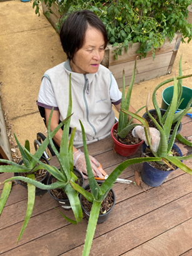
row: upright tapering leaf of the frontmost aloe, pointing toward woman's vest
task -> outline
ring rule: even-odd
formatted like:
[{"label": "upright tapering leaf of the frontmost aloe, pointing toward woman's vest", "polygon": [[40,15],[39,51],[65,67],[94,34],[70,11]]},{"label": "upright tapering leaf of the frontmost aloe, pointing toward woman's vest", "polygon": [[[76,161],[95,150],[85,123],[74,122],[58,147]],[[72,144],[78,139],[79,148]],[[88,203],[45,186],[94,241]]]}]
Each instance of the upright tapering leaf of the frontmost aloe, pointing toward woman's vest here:
[{"label": "upright tapering leaf of the frontmost aloe, pointing toward woman's vest", "polygon": [[91,193],[93,195],[93,198],[95,200],[98,200],[99,195],[100,195],[100,188],[98,183],[96,182],[94,175],[93,175],[93,171],[92,171],[92,167],[91,167],[91,163],[89,160],[89,153],[88,153],[88,147],[86,145],[86,136],[85,136],[85,132],[84,132],[84,127],[83,124],[81,123],[81,120],[79,120],[80,125],[81,125],[81,130],[82,130],[82,137],[83,137],[83,148],[84,148],[84,157],[86,160],[86,168],[87,168],[87,172],[88,172],[88,180],[89,180],[89,185],[91,188]]}]

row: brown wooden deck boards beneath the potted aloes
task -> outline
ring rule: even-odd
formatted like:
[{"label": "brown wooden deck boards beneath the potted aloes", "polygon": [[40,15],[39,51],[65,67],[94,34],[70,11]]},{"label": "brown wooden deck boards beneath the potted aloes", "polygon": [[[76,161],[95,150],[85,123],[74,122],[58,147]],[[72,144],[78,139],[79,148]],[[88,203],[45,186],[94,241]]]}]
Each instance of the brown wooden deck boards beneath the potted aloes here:
[{"label": "brown wooden deck boards beneath the potted aloes", "polygon": [[[192,138],[192,120],[185,116],[182,123],[181,135]],[[189,146],[177,144],[183,155],[192,153]],[[108,174],[127,159],[114,153],[111,138],[89,145],[88,150]],[[135,157],[140,154],[141,148]],[[54,159],[51,161],[53,163]],[[192,167],[192,160],[187,162]],[[120,178],[134,180],[136,170],[140,171],[141,165],[129,166]],[[2,182],[12,176],[2,173],[0,180]],[[192,255],[191,175],[176,170],[160,187],[151,188],[143,183],[142,188],[134,184],[115,183],[113,188],[116,205],[109,219],[97,225],[90,255]],[[68,223],[54,209],[59,208],[58,203],[48,193],[36,197],[28,227],[16,244],[26,213],[27,198],[27,190],[15,184],[0,218],[0,254],[80,256],[86,235],[86,218],[77,226]],[[71,211],[59,210],[73,218]]]}]

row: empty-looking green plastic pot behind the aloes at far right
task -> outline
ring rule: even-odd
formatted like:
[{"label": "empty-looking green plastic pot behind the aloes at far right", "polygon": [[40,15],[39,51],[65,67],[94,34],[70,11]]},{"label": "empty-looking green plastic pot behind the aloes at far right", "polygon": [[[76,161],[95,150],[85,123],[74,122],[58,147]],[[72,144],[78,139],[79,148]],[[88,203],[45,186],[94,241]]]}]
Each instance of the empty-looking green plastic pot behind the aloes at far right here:
[{"label": "empty-looking green plastic pot behind the aloes at far right", "polygon": [[[174,86],[172,85],[163,90],[162,102],[161,102],[161,108],[163,110],[167,110],[169,104],[171,103],[171,100],[173,98],[173,87]],[[182,87],[183,87],[183,93],[181,95],[181,99],[184,98],[184,100],[181,102],[181,105],[179,106],[178,111],[184,110],[188,105],[189,100],[191,100],[192,98],[192,89],[186,86],[182,86]]]}]

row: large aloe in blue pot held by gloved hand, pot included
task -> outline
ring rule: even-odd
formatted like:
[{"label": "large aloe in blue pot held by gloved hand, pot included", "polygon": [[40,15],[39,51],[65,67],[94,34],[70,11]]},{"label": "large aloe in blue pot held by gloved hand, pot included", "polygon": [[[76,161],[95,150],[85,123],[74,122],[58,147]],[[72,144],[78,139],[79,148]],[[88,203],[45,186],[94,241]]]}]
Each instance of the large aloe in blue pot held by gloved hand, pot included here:
[{"label": "large aloe in blue pot held by gloved hand, pot included", "polygon": [[[186,77],[188,77],[188,76],[186,76]],[[182,78],[185,78],[185,77],[183,76]],[[143,181],[146,184],[150,185],[151,187],[157,187],[157,186],[161,185],[163,183],[164,179],[166,178],[166,176],[168,176],[169,173],[171,172],[171,170],[174,170],[175,167],[181,168],[181,170],[184,170],[184,172],[188,172],[188,173],[192,174],[191,170],[186,165],[181,163],[181,160],[186,160],[186,159],[192,158],[192,155],[182,157],[182,154],[180,152],[181,156],[174,156],[173,152],[171,151],[172,148],[174,148],[174,150],[176,150],[176,151],[179,151],[178,147],[176,145],[174,145],[176,131],[178,130],[179,123],[181,122],[181,119],[183,118],[183,116],[186,115],[186,113],[192,112],[192,108],[187,108],[186,110],[183,110],[182,113],[180,113],[180,115],[178,117],[178,122],[176,123],[176,126],[174,127],[173,134],[171,135],[171,138],[169,139],[171,125],[175,118],[174,113],[175,113],[177,105],[178,105],[178,101],[177,101],[178,100],[178,85],[176,82],[177,79],[181,79],[181,77],[179,76],[176,78],[176,74],[174,74],[173,100],[171,101],[171,104],[166,113],[167,117],[166,117],[166,120],[164,121],[164,125],[162,125],[162,126],[159,125],[159,123],[149,113],[149,111],[148,111],[149,96],[148,96],[148,100],[146,103],[146,112],[148,113],[148,116],[151,118],[151,120],[153,120],[154,124],[156,125],[156,128],[159,130],[159,133],[160,133],[160,142],[159,142],[157,152],[154,152],[153,148],[151,146],[151,135],[149,132],[148,122],[144,118],[141,118],[140,116],[138,116],[134,113],[131,113],[126,110],[121,110],[124,113],[127,113],[127,114],[133,116],[134,118],[138,119],[143,124],[144,132],[146,135],[146,140],[149,145],[150,153],[152,154],[152,156],[167,159],[166,161],[161,160],[158,163],[159,168],[161,169],[161,167],[162,167],[163,170],[159,170],[159,168],[154,168],[153,166],[151,166],[150,161],[148,161],[148,163],[143,164],[141,177],[143,178]],[[158,115],[160,116],[161,113],[160,113],[159,108],[156,108],[156,110],[157,110]],[[146,148],[146,145],[144,144],[143,151],[145,148]],[[165,165],[167,165],[166,170],[168,170],[168,171],[164,171]]]}]

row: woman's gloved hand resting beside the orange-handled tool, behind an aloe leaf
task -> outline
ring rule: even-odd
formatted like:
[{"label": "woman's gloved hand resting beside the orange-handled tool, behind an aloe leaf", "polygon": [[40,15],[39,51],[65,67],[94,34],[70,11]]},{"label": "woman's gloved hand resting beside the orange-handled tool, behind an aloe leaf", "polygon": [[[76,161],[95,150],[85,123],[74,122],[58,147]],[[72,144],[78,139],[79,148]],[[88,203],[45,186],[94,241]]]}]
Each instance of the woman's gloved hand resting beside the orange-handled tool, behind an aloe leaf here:
[{"label": "woman's gloved hand resting beside the orange-handled tool, behind an aloe leaf", "polygon": [[[89,160],[91,162],[94,177],[103,178],[103,175],[98,169],[99,162],[93,156],[89,156]],[[86,161],[84,158],[84,153],[81,152],[81,150],[78,150],[73,154],[73,165],[79,170],[79,172],[83,173],[84,178],[88,178]]]}]

